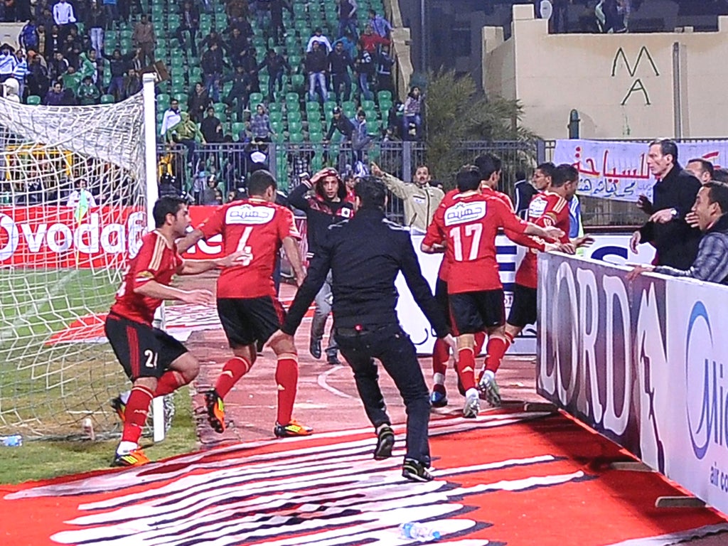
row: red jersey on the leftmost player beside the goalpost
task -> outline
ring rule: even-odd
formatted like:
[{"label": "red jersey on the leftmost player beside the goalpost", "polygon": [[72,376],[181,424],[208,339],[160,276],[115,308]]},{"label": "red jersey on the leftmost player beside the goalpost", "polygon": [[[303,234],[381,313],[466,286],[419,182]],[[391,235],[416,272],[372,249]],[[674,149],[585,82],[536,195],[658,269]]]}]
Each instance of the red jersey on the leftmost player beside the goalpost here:
[{"label": "red jersey on the leftmost player beside the goalpost", "polygon": [[156,229],[146,234],[142,237],[139,253],[124,271],[124,280],[116,291],[116,302],[111,306],[111,312],[151,325],[154,312],[162,305],[162,300],[142,296],[134,290],[150,280],[169,285],[174,274],[181,272],[183,262],[175,245],[170,245],[164,235]]}]

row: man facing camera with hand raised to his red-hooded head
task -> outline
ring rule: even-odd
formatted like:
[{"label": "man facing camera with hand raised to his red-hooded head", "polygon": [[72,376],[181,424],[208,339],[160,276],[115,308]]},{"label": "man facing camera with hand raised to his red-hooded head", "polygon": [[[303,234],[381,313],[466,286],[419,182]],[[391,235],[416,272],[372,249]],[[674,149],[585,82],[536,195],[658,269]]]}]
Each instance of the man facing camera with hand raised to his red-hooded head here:
[{"label": "man facing camera with hand raised to his red-hooded head", "polygon": [[[313,195],[306,195],[314,189]],[[313,258],[324,240],[326,229],[332,223],[352,217],[353,207],[345,199],[347,187],[341,181],[339,173],[334,169],[323,169],[309,181],[306,178],[288,195],[288,202],[306,213],[306,241],[309,251],[306,258]],[[316,310],[311,324],[311,340],[309,352],[314,358],[321,357],[321,340],[326,328],[326,320],[331,314],[331,274],[326,277],[321,290],[316,295]],[[336,340],[328,338],[326,361],[329,364],[341,364],[337,353]]]}]

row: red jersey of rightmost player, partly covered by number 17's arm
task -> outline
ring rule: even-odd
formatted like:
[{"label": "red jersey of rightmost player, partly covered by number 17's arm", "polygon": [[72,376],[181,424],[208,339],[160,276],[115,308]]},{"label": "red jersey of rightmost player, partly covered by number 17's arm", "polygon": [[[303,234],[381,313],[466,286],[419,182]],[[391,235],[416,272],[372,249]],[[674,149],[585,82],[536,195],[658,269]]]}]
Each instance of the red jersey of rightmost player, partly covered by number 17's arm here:
[{"label": "red jersey of rightmost player, partly covered by number 17's arm", "polygon": [[[569,202],[561,195],[551,191],[534,195],[531,205],[529,205],[529,221],[542,227],[558,227],[564,233],[561,242],[569,242]],[[526,256],[523,256],[521,266],[515,272],[516,284],[528,288],[538,287],[538,253],[539,250],[535,248],[526,250]]]}]

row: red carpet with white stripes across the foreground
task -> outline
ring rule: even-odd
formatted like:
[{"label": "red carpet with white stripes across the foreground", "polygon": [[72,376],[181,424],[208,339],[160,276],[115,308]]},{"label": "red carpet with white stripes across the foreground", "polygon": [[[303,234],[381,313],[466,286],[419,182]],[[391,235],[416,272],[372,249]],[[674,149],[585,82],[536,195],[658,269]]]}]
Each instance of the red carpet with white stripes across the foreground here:
[{"label": "red carpet with white stripes across the foreground", "polygon": [[12,545],[400,545],[411,543],[398,538],[400,523],[429,521],[441,545],[598,546],[728,528],[711,510],[654,508],[678,492],[658,475],[609,470],[625,455],[560,415],[432,422],[430,483],[400,477],[397,432],[384,462],[371,459],[371,432],[331,432],[5,486],[0,536]]}]

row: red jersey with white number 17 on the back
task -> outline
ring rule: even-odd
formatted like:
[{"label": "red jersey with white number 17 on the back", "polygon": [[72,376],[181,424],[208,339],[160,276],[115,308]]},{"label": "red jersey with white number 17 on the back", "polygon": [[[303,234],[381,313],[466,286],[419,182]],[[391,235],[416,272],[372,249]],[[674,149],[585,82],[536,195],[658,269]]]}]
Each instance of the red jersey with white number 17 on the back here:
[{"label": "red jersey with white number 17 on the back", "polygon": [[[503,288],[496,260],[499,228],[515,233],[526,230],[526,222],[497,197],[479,193],[453,197],[451,204],[438,207],[425,244],[446,240],[446,260],[450,262],[448,293],[478,292]],[[439,234],[439,241],[435,240]]]}]

